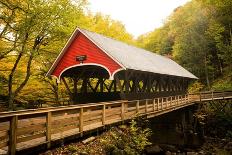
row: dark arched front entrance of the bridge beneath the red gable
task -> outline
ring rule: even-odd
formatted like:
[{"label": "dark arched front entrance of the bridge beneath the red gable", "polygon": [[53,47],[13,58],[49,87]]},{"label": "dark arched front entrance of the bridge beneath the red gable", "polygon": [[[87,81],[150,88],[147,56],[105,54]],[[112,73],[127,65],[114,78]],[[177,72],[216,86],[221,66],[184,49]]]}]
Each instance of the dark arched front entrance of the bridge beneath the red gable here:
[{"label": "dark arched front entrance of the bridge beneath the red gable", "polygon": [[[68,86],[65,78],[73,83]],[[120,100],[114,80],[109,80],[109,71],[97,65],[73,67],[62,74],[62,80],[74,103],[104,102]]]}]

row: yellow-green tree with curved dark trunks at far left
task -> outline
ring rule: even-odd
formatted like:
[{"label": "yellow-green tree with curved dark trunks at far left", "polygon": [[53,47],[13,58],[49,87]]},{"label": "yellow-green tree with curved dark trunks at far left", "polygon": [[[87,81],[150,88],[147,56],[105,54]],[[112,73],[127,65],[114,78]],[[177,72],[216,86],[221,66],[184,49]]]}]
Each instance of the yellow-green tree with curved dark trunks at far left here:
[{"label": "yellow-green tree with curved dark trunks at far left", "polygon": [[[13,109],[14,98],[24,88],[31,76],[33,61],[37,57],[49,55],[49,53],[45,53],[49,49],[49,46],[48,48],[46,46],[64,36],[63,29],[57,29],[56,27],[61,27],[57,25],[65,25],[66,18],[70,16],[74,9],[75,11],[82,10],[82,3],[78,4],[81,5],[78,5],[77,8],[69,0],[1,0],[1,6],[5,12],[14,12],[15,8],[18,8],[14,18],[12,17],[14,20],[7,20],[1,32],[2,35],[5,34],[4,39],[13,42],[9,48],[13,49],[11,51],[15,53],[14,65],[8,75],[8,104],[10,110]],[[6,17],[8,16],[6,15]],[[2,55],[5,56],[6,52],[3,53]],[[26,63],[26,65],[23,64],[26,66],[26,71],[23,77],[17,79],[15,77],[22,61]]]}]

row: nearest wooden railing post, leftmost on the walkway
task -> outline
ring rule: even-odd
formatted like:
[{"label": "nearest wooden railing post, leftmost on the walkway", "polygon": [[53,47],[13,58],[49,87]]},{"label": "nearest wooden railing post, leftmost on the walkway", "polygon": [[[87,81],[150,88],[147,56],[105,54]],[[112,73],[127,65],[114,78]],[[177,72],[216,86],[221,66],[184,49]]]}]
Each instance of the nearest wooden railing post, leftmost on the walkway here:
[{"label": "nearest wooden railing post, leftmost on the walkway", "polygon": [[18,116],[15,115],[10,120],[9,148],[8,148],[8,154],[10,154],[10,155],[16,154],[17,126],[18,126]]}]

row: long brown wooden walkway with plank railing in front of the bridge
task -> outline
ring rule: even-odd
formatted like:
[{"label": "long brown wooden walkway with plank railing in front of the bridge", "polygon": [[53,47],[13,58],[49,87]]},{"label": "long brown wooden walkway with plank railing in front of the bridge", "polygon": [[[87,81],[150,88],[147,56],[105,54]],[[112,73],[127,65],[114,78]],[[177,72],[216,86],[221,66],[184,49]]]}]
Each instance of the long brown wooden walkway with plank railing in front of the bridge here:
[{"label": "long brown wooden walkway with plank railing in front of the bridge", "polygon": [[148,118],[198,102],[232,99],[232,91],[184,94],[162,98],[89,103],[0,113],[0,154],[46,144],[86,131],[146,115]]}]

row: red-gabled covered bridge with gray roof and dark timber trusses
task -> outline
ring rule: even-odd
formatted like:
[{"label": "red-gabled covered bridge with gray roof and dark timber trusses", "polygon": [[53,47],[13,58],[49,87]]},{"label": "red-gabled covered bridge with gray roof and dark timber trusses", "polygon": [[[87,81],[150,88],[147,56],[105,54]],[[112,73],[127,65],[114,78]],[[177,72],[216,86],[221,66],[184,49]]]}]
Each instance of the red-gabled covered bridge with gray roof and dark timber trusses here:
[{"label": "red-gabled covered bridge with gray roof and dark timber trusses", "polygon": [[80,28],[47,76],[62,80],[74,103],[180,95],[197,79],[167,57]]}]

